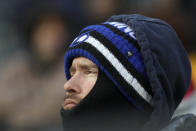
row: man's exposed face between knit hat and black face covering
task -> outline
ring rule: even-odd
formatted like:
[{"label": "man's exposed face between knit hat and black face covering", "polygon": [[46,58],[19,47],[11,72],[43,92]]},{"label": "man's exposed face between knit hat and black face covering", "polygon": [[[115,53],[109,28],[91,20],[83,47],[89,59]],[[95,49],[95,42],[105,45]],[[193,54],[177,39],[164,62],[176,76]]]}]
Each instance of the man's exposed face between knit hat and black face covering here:
[{"label": "man's exposed face between knit hat and black face covering", "polygon": [[89,59],[78,57],[72,62],[70,75],[71,78],[64,85],[65,110],[76,106],[91,91],[98,77],[98,68]]}]

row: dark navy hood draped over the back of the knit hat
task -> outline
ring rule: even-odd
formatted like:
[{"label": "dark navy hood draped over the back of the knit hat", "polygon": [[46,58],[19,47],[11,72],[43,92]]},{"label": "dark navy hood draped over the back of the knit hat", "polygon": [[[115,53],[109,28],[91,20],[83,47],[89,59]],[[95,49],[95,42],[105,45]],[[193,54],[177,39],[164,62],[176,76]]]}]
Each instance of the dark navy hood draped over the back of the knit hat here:
[{"label": "dark navy hood draped over the back of the knit hat", "polygon": [[191,79],[190,62],[181,41],[174,29],[159,19],[134,14],[112,16],[108,21],[131,26],[141,47],[154,106],[144,130],[158,130],[166,126]]}]

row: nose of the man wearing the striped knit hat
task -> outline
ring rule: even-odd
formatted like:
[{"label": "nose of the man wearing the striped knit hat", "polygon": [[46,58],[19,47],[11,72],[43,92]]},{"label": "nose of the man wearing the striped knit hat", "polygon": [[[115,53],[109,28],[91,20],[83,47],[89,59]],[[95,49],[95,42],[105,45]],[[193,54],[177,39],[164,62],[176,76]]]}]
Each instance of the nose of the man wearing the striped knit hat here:
[{"label": "nose of the man wearing the striped knit hat", "polygon": [[65,84],[64,90],[69,94],[79,94],[81,92],[79,77],[73,76],[71,77]]}]

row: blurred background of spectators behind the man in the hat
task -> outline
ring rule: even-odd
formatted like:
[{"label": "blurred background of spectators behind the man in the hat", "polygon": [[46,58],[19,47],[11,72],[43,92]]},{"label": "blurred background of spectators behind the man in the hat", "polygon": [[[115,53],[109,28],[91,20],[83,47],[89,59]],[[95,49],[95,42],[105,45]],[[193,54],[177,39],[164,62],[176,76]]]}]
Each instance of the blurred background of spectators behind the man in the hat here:
[{"label": "blurred background of spectators behind the man in the hat", "polygon": [[167,21],[192,65],[192,83],[175,115],[196,114],[195,0],[1,0],[0,130],[62,130],[66,46],[81,28],[114,14]]}]

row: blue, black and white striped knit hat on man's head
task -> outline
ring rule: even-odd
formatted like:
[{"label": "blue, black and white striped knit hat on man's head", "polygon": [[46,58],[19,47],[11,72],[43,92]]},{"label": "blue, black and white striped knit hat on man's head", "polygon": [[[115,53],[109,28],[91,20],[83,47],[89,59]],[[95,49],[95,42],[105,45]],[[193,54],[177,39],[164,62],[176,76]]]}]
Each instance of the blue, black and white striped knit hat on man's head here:
[{"label": "blue, black and white striped knit hat on man's head", "polygon": [[65,54],[65,75],[76,57],[93,61],[120,92],[140,110],[151,107],[152,91],[137,38],[130,26],[105,22],[84,28]]}]

